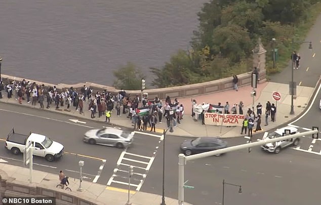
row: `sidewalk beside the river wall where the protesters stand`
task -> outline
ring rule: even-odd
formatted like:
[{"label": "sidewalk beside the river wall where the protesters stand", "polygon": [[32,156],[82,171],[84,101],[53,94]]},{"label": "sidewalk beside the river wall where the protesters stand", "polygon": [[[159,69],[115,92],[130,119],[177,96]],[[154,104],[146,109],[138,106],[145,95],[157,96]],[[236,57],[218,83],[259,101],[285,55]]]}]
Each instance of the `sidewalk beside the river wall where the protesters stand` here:
[{"label": "sidewalk beside the river wall where the protesters stand", "polygon": [[[289,93],[289,86],[287,84],[278,84],[278,83],[271,83],[271,82],[264,82],[258,85],[257,89],[257,96],[255,98],[255,107],[260,102],[264,109],[265,104],[267,101],[270,101],[271,103],[275,104],[275,100],[272,98],[272,93],[274,91],[281,94],[280,101],[277,102],[277,112],[276,112],[276,121],[270,122],[268,126],[262,126],[264,130],[273,129],[274,127],[277,127],[280,124],[284,124],[287,121],[290,121],[294,117],[296,117],[298,114],[300,114],[304,108],[307,106],[310,97],[313,94],[314,88],[310,87],[303,87],[298,86],[297,87],[297,96],[294,100],[294,106],[295,106],[295,115],[290,115],[290,108],[291,108],[291,96]],[[239,101],[243,101],[245,108],[244,112],[246,113],[248,108],[252,107],[252,97],[250,95],[252,91],[251,86],[245,86],[239,88],[239,90],[236,92],[235,90],[227,90],[220,93],[212,93],[208,95],[203,96],[196,96],[193,99],[197,101],[197,104],[200,103],[211,103],[211,104],[217,104],[218,102],[221,102],[222,105],[225,104],[225,102],[229,102],[230,107],[236,103],[238,104]],[[26,106],[34,109],[39,109],[43,111],[50,111],[55,113],[61,113],[65,115],[69,115],[71,119],[87,119],[87,120],[94,120],[105,123],[105,116],[98,117],[96,115],[96,118],[92,119],[90,117],[90,111],[88,110],[88,101],[84,102],[84,113],[79,114],[79,111],[76,111],[74,107],[70,107],[70,111],[66,110],[66,107],[60,107],[59,109],[55,109],[55,105],[52,104],[51,108],[49,109],[40,109],[39,104],[32,106],[31,103],[27,103],[26,101],[22,101],[22,104],[19,104],[17,100],[14,98],[8,99],[6,96],[6,93],[3,92],[4,97],[3,99],[0,99],[0,102],[3,103],[9,103],[9,104],[17,104],[21,106]],[[203,136],[219,136],[222,138],[229,138],[229,137],[240,137],[240,127],[220,127],[220,126],[210,126],[210,125],[202,125],[201,121],[195,121],[194,118],[191,118],[191,98],[181,98],[178,99],[180,103],[184,105],[184,117],[181,121],[181,124],[178,124],[176,128],[174,128],[174,132],[171,135],[174,136],[183,136],[183,137],[203,137]],[[46,106],[46,104],[45,104]],[[238,111],[238,110],[237,110]],[[255,110],[256,112],[256,110]],[[263,114],[264,115],[264,114]],[[264,123],[264,117],[262,118],[262,124]],[[269,118],[270,120],[270,118]],[[163,120],[164,121],[164,120]],[[117,117],[115,115],[115,112],[112,113],[110,124],[113,126],[119,126],[119,127],[127,127],[130,129],[133,129],[134,127],[131,124],[131,121],[129,118],[126,117],[126,115],[121,115]],[[106,123],[107,125],[107,123]],[[263,124],[264,125],[264,124]],[[156,132],[163,133],[163,130],[166,129],[166,123],[163,122],[162,124],[157,123],[156,125]],[[149,130],[147,131],[149,132]],[[261,131],[263,132],[263,131]]]}]

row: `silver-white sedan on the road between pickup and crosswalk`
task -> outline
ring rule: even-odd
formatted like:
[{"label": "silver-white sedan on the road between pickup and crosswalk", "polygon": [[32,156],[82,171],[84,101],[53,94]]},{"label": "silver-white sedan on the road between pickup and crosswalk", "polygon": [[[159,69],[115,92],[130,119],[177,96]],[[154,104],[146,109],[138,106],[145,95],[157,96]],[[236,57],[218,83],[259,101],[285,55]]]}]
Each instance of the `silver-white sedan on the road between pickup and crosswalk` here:
[{"label": "silver-white sedan on the road between pickup and crosswalk", "polygon": [[115,128],[95,129],[85,133],[84,142],[117,148],[128,147],[133,142],[134,133]]}]

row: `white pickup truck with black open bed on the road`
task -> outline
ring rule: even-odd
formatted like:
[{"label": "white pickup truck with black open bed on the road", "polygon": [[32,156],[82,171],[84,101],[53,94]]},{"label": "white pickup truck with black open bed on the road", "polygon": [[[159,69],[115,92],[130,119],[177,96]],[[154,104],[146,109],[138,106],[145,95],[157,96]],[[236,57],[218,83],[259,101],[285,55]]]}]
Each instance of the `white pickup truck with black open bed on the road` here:
[{"label": "white pickup truck with black open bed on the road", "polygon": [[50,138],[35,133],[22,135],[15,133],[14,129],[8,134],[5,147],[13,154],[20,154],[27,144],[31,142],[32,154],[45,157],[48,161],[54,161],[63,155],[64,146]]}]

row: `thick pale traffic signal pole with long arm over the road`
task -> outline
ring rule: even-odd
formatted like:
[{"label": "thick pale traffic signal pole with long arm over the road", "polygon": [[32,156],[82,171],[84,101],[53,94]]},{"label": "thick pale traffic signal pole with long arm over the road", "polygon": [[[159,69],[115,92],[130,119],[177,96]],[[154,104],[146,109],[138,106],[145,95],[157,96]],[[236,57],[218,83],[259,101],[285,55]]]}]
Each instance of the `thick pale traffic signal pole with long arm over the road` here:
[{"label": "thick pale traffic signal pole with long arm over the road", "polygon": [[303,132],[303,133],[297,133],[294,135],[287,135],[287,136],[273,138],[273,139],[265,138],[262,141],[236,145],[236,146],[227,147],[224,149],[208,151],[208,152],[194,154],[194,155],[190,155],[190,156],[185,156],[184,154],[179,154],[178,155],[178,204],[184,205],[184,170],[185,170],[185,165],[186,165],[187,161],[191,161],[191,160],[195,160],[195,159],[199,159],[199,158],[204,158],[204,157],[209,157],[209,156],[214,156],[214,155],[218,155],[218,154],[223,154],[223,153],[236,151],[236,150],[240,150],[240,149],[248,149],[251,147],[260,146],[260,145],[267,144],[267,143],[278,142],[278,141],[282,141],[282,140],[288,140],[291,138],[313,135],[313,134],[317,134],[318,132],[319,131],[317,129],[315,129],[315,130],[311,130],[311,131],[307,131],[307,132]]}]

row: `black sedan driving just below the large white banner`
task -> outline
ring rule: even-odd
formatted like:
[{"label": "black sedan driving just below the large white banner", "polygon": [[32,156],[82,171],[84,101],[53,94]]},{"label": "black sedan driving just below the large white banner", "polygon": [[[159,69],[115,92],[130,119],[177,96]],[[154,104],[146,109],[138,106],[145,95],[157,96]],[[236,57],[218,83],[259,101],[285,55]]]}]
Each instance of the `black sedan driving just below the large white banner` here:
[{"label": "black sedan driving just below the large white banner", "polygon": [[191,155],[226,147],[227,143],[216,137],[199,137],[193,140],[185,140],[180,148],[185,155]]}]

